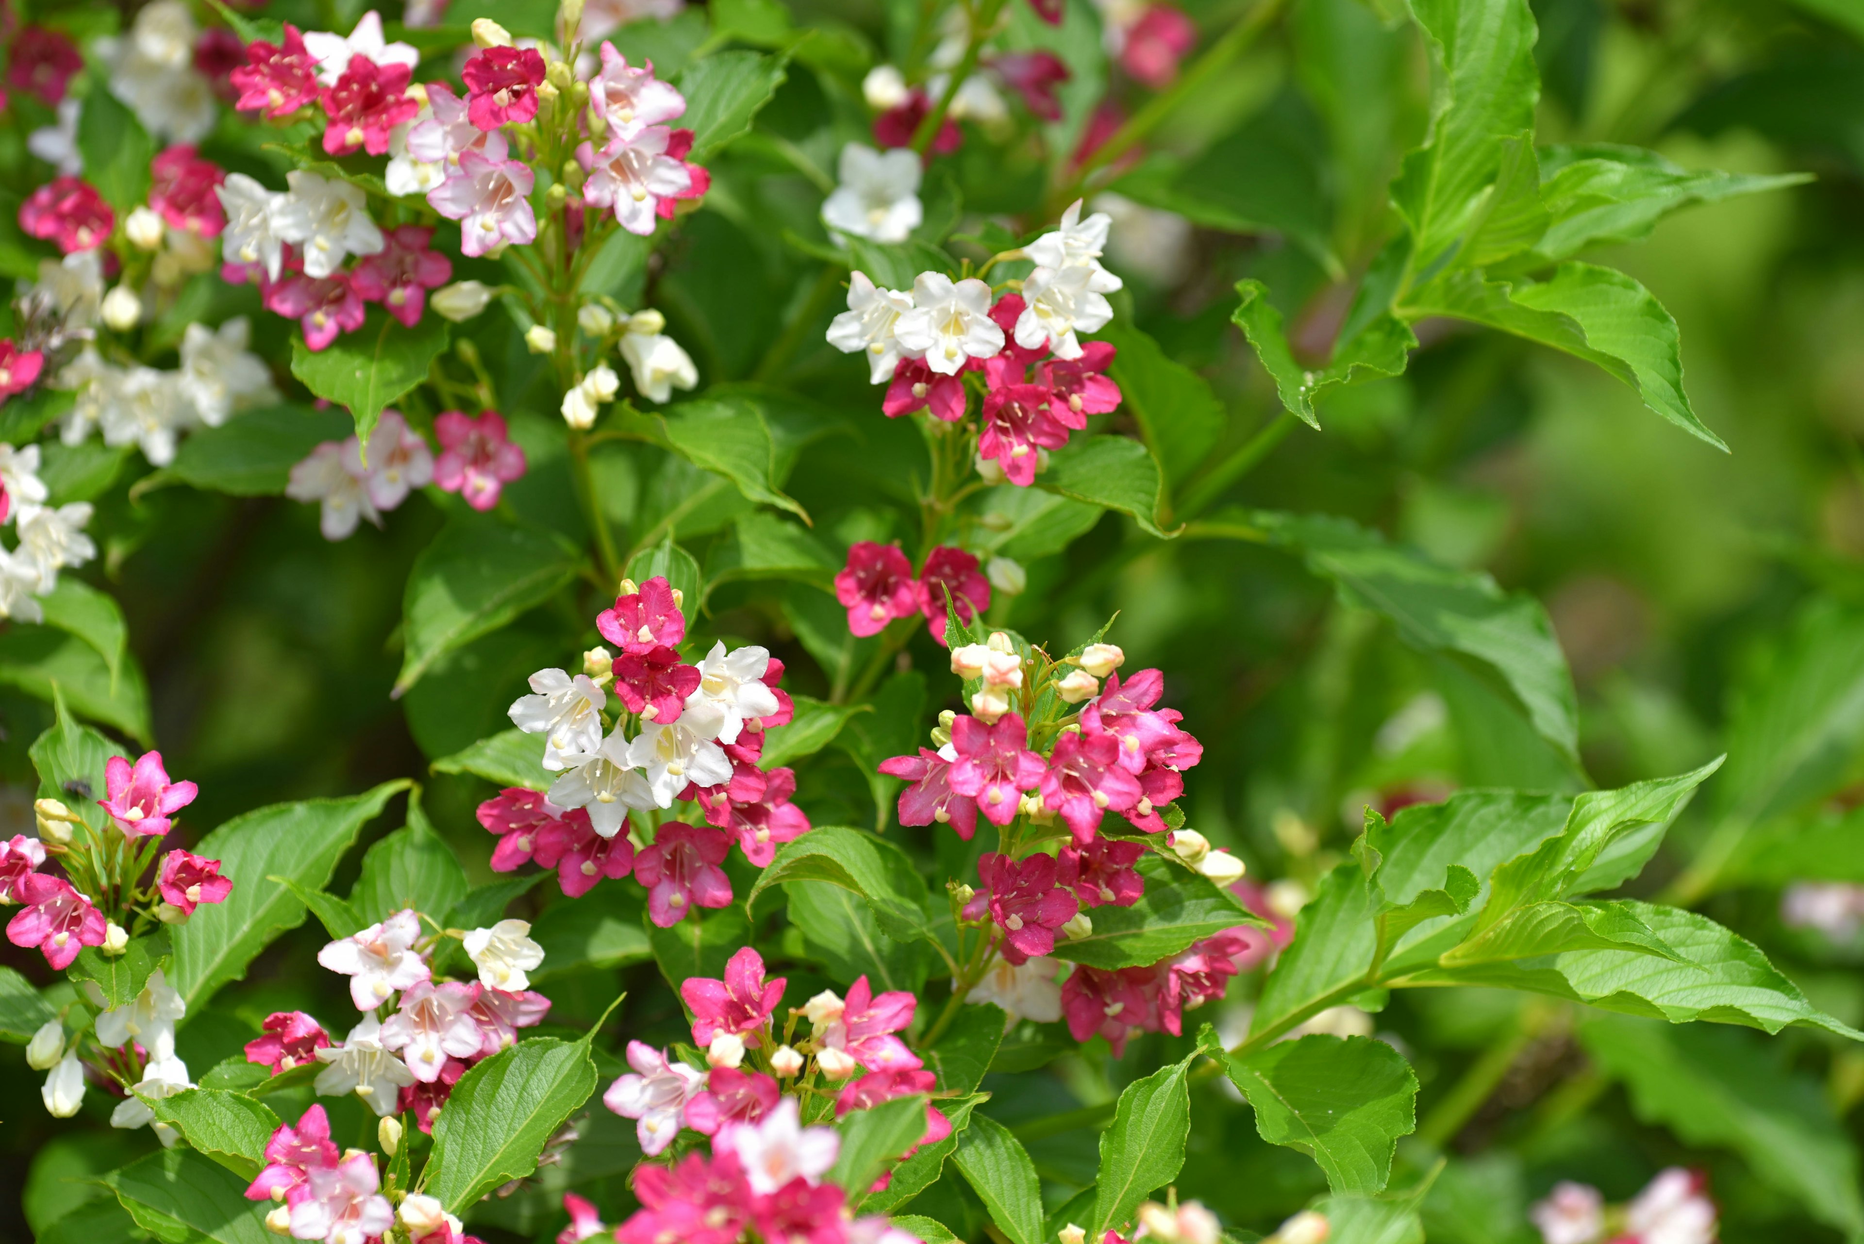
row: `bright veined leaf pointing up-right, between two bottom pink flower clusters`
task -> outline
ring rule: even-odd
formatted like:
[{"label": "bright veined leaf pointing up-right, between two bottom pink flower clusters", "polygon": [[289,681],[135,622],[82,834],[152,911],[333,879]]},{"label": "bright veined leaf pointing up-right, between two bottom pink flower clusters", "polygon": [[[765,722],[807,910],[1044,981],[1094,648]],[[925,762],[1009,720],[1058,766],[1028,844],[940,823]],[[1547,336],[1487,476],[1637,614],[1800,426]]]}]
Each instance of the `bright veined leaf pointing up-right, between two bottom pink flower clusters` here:
[{"label": "bright veined leaf pointing up-right, between two bottom pink flower clusters", "polygon": [[492,1188],[529,1175],[544,1141],[589,1100],[595,1084],[589,1037],[520,1041],[475,1063],[434,1119],[421,1190],[462,1214]]}]

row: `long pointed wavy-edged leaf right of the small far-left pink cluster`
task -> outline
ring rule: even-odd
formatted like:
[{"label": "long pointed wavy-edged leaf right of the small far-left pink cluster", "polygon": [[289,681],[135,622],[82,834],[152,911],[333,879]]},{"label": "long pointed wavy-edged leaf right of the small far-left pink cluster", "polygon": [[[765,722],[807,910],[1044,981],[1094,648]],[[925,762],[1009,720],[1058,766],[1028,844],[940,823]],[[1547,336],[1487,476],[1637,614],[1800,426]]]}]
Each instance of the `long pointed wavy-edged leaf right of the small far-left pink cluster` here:
[{"label": "long pointed wavy-edged leaf right of the small far-left pink cluster", "polygon": [[190,1011],[227,981],[246,975],[246,966],[272,938],[304,919],[304,903],[270,878],[289,877],[322,890],[362,826],[406,787],[406,781],[384,781],[350,798],[259,808],[201,839],[196,852],[220,860],[220,875],[233,880],[233,893],[226,903],[199,908],[175,931],[168,977]]}]

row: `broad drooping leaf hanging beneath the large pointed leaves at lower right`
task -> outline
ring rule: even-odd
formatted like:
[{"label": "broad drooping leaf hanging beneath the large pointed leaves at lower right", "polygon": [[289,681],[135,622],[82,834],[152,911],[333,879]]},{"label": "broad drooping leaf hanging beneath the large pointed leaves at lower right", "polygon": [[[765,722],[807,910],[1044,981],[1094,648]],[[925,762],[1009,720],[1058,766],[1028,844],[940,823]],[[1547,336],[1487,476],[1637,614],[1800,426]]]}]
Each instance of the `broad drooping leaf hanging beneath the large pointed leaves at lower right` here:
[{"label": "broad drooping leaf hanging beneath the large pointed leaves at lower right", "polygon": [[1212,1054],[1254,1108],[1262,1140],[1314,1158],[1335,1192],[1383,1192],[1398,1138],[1417,1127],[1417,1074],[1398,1050],[1312,1035],[1249,1057]]}]

